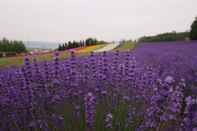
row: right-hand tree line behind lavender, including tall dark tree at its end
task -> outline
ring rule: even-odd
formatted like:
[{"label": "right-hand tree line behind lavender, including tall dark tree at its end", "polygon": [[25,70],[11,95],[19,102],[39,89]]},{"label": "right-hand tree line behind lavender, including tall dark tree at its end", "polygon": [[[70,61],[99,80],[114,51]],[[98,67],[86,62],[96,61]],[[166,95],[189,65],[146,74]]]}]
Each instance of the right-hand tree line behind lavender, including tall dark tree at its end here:
[{"label": "right-hand tree line behind lavender, including tall dark tree at its end", "polygon": [[197,40],[197,18],[191,25],[190,31],[186,32],[167,32],[154,36],[143,36],[138,42],[160,42],[160,41],[184,41]]}]

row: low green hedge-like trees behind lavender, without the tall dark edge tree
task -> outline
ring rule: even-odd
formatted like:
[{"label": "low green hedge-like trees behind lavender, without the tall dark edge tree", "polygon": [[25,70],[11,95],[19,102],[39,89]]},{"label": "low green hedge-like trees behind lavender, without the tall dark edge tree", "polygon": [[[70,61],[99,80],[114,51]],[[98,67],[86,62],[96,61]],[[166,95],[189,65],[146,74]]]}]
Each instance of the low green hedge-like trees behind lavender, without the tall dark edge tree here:
[{"label": "low green hedge-like trees behind lavender, without the tall dark edge tree", "polygon": [[168,32],[155,36],[144,36],[139,39],[139,42],[160,42],[160,41],[183,41],[189,38],[189,32]]}]

